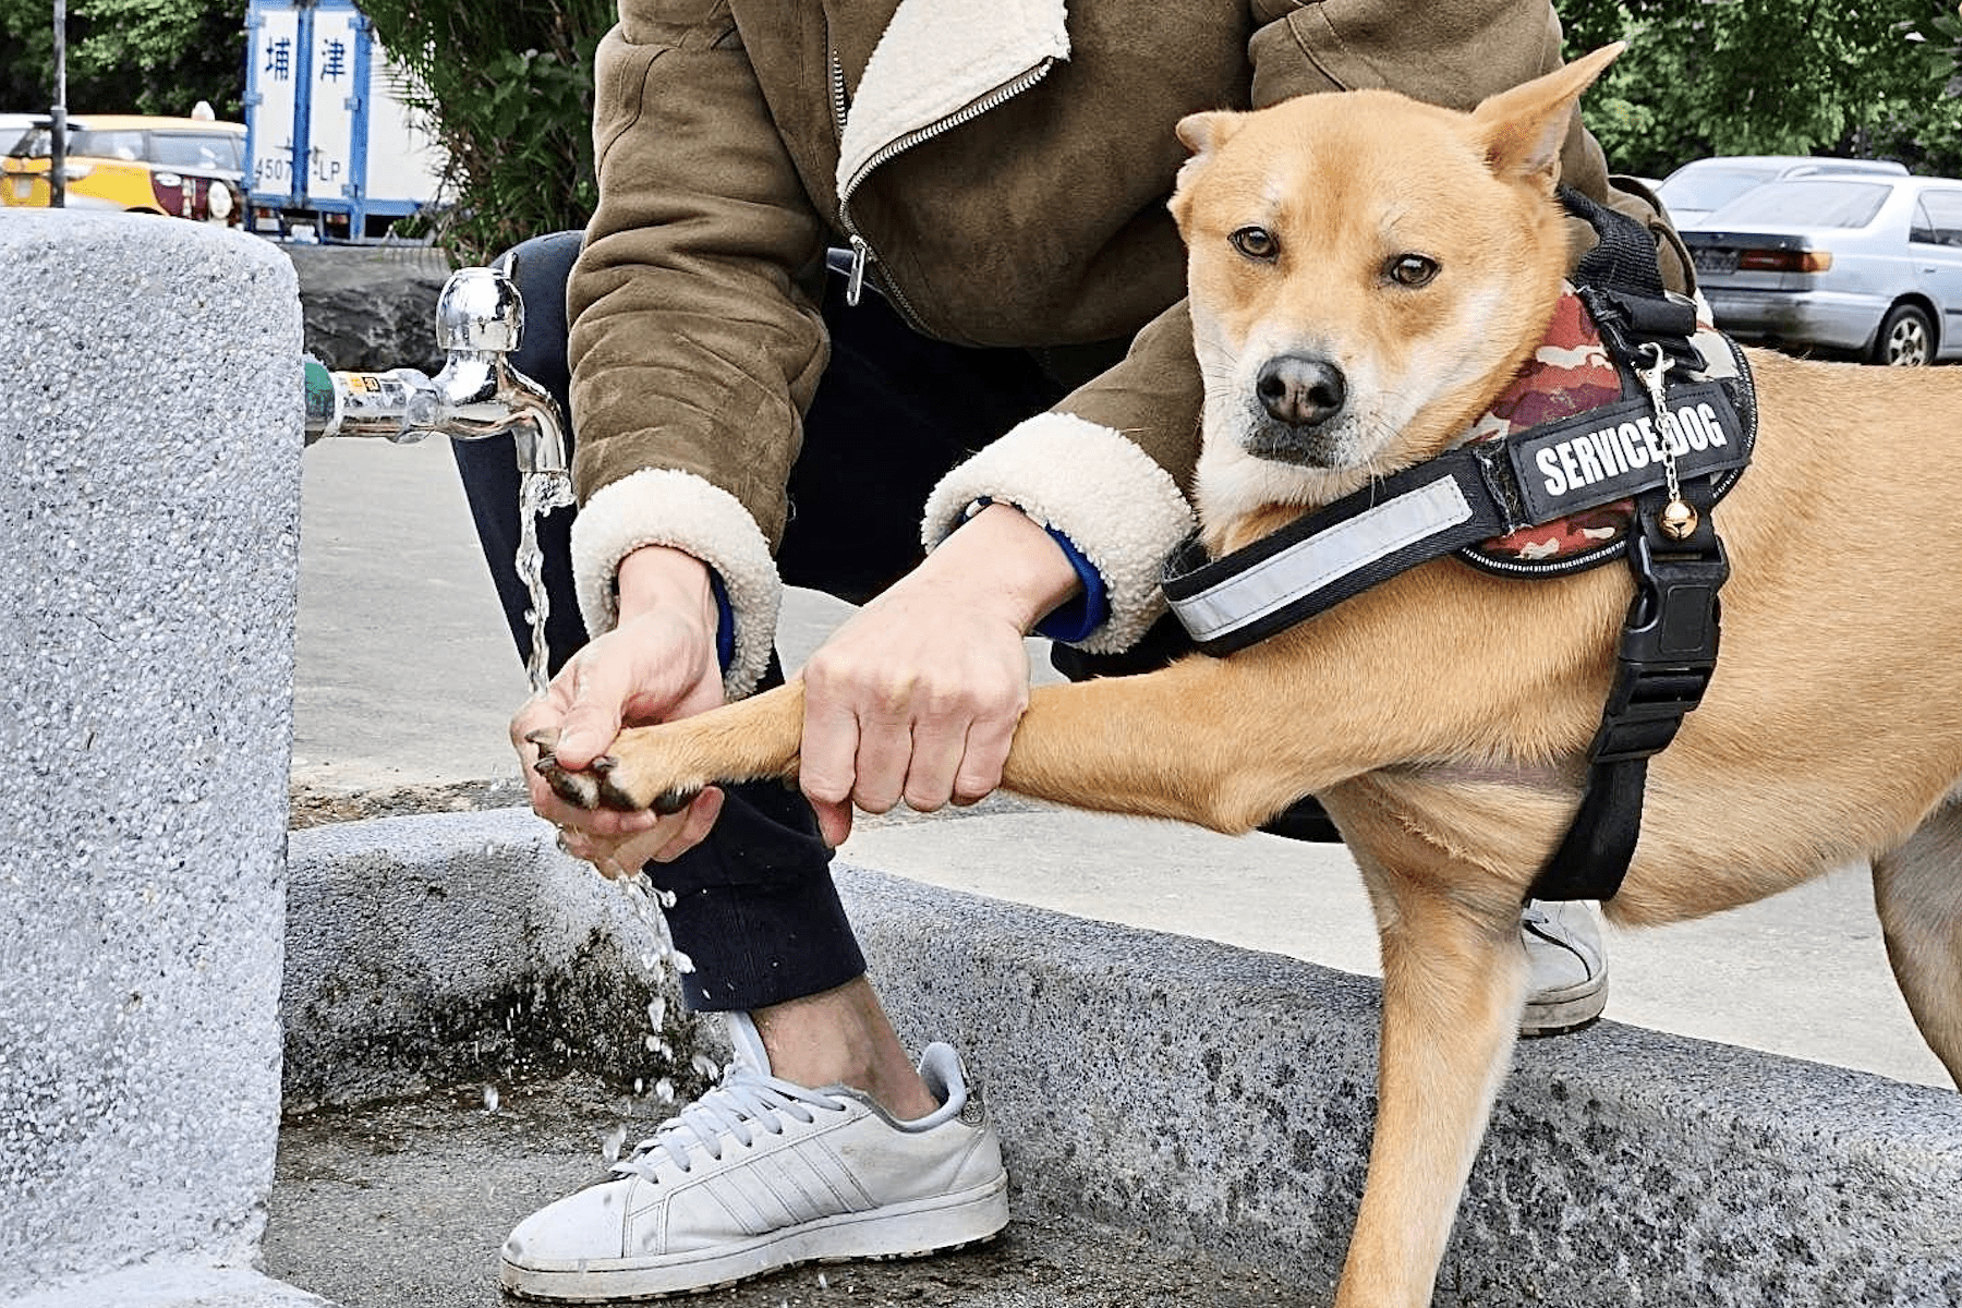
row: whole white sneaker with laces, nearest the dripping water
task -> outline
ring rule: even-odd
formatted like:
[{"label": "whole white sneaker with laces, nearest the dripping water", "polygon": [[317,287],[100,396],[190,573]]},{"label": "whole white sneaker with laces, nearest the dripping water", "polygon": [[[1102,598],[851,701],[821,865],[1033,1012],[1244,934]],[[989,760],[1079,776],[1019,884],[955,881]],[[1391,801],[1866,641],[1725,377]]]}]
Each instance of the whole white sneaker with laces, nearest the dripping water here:
[{"label": "whole white sneaker with laces, nearest the dripping water", "polygon": [[1001,1141],[950,1045],[920,1057],[940,1108],[895,1122],[859,1090],[771,1077],[748,1014],[730,1014],[730,1039],[722,1084],[614,1163],[614,1181],[518,1224],[504,1288],[659,1298],[797,1263],[954,1249],[1008,1224]]}]

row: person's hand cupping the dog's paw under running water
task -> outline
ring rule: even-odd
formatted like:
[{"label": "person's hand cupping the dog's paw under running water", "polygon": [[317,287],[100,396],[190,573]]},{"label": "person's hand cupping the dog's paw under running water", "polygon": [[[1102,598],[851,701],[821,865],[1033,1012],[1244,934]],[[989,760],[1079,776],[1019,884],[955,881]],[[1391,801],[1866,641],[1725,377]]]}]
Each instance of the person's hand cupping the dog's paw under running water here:
[{"label": "person's hand cupping the dog's paw under running water", "polygon": [[573,655],[543,694],[510,722],[532,812],[559,828],[559,845],[604,877],[630,879],[642,863],[693,849],[722,812],[708,788],[679,814],[573,808],[532,767],[549,745],[583,769],[606,753],[622,726],[669,722],[722,702],[716,602],[708,569],[675,549],[638,549],[620,563],[620,624]]}]

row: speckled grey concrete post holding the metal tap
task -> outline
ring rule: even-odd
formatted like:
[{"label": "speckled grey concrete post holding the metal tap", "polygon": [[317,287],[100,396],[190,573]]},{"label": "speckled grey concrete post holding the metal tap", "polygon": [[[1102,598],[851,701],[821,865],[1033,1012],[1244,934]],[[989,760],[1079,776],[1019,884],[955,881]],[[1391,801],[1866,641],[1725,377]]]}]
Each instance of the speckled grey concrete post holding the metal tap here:
[{"label": "speckled grey concrete post holding the metal tap", "polygon": [[0,1300],[314,1302],[279,1132],[300,306],[263,241],[0,210]]}]

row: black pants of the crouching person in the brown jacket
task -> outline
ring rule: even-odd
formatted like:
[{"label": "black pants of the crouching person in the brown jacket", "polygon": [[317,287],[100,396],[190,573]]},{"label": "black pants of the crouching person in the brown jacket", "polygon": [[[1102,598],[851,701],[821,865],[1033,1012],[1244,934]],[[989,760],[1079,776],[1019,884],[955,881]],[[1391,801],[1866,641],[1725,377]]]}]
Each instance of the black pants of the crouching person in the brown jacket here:
[{"label": "black pants of the crouching person in the brown jacket", "polygon": [[[567,410],[565,278],[579,233],[561,231],[512,251],[524,296],[524,341],[512,365]],[[791,475],[791,522],[777,567],[793,586],[863,602],[920,561],[918,514],[950,467],[1022,418],[1038,414],[1081,377],[1020,349],[963,349],[908,329],[877,294],[844,304],[830,278],[824,320],[832,363],[804,418],[804,445]],[[1073,351],[1067,369],[1095,373],[1114,361]],[[571,439],[571,437],[569,437]],[[532,647],[530,600],[512,557],[518,547],[518,469],[510,439],[451,441],[471,516],[496,580],[520,655]],[[547,665],[557,671],[587,641],[573,592],[573,512],[540,526],[551,614]],[[1052,659],[1071,679],[1138,673],[1191,649],[1169,620],[1118,657],[1058,645]],[[781,680],[771,661],[765,684]],[[1332,837],[1309,802],[1277,820],[1287,835]],[[865,971],[838,892],[830,851],[800,794],[773,782],[728,786],[714,831],[647,875],[677,898],[667,910],[675,947],[695,961],[683,996],[697,1010],[749,1010],[844,984]]]}]

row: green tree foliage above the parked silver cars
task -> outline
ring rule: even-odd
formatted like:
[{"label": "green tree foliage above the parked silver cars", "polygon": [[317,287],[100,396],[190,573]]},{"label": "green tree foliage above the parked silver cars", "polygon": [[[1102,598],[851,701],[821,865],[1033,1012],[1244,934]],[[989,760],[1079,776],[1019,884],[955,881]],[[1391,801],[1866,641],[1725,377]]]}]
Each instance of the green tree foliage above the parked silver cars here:
[{"label": "green tree foliage above the parked silver cars", "polygon": [[1556,0],[1568,57],[1628,51],[1585,102],[1611,165],[1854,155],[1962,173],[1962,18],[1938,0]]}]

